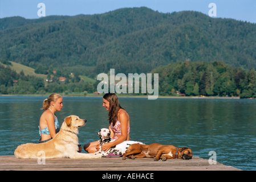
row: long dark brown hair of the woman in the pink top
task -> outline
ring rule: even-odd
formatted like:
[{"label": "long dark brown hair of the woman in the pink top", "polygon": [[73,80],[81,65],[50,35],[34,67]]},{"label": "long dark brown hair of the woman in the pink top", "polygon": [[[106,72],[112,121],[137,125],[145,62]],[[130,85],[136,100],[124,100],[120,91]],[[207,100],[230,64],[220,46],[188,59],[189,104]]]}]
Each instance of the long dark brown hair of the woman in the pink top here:
[{"label": "long dark brown hair of the woman in the pink top", "polygon": [[118,119],[117,113],[123,107],[120,106],[118,97],[115,93],[106,93],[103,98],[109,102],[109,110],[108,110],[108,121],[109,125],[112,123],[113,126],[116,125],[116,121]]}]

